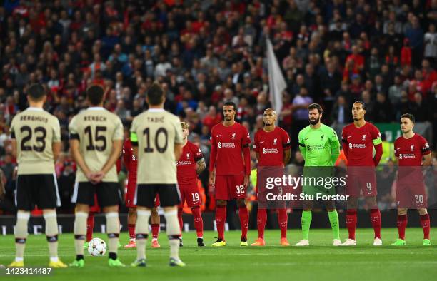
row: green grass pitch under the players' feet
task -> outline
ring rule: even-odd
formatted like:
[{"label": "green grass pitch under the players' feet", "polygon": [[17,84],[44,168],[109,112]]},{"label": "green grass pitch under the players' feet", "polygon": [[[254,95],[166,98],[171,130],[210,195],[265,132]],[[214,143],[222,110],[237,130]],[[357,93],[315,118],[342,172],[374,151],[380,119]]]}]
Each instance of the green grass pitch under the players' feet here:
[{"label": "green grass pitch under the players' feet", "polygon": [[[345,238],[346,230],[341,230]],[[432,235],[432,233],[431,233]],[[98,233],[107,241],[106,236]],[[216,233],[204,234],[206,246],[197,247],[196,233],[184,233],[181,259],[186,267],[169,267],[169,248],[164,232],[160,233],[160,249],[149,247],[146,251],[146,268],[109,268],[107,257],[91,257],[86,252],[85,267],[54,270],[50,276],[6,276],[0,272],[0,280],[436,280],[437,247],[423,247],[421,228],[407,228],[405,247],[391,247],[397,237],[397,229],[383,229],[382,247],[373,247],[373,230],[358,229],[356,247],[332,247],[331,230],[311,230],[310,247],[281,247],[278,245],[279,230],[266,231],[266,247],[240,247],[239,231],[226,233],[226,247],[210,247]],[[248,234],[249,243],[256,239],[256,230]],[[125,245],[127,233],[121,233]],[[295,244],[300,240],[300,230],[288,230],[288,240]],[[432,236],[431,236],[432,238]],[[59,236],[59,256],[66,263],[74,260],[72,234]],[[433,240],[431,239],[431,242]],[[0,238],[0,264],[8,265],[14,258],[14,237]],[[136,250],[119,249],[122,262],[129,265],[136,258]],[[48,250],[44,235],[29,235],[25,252],[25,265],[45,267]]]}]

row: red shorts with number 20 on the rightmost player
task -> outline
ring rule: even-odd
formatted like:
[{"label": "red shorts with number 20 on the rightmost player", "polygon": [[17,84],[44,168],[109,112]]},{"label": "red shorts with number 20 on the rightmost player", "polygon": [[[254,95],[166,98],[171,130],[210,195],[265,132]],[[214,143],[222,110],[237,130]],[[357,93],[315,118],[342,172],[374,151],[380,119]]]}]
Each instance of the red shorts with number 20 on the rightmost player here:
[{"label": "red shorts with number 20 on the rightmost player", "polygon": [[427,201],[423,182],[413,184],[398,183],[396,186],[398,208],[422,209],[426,208]]}]

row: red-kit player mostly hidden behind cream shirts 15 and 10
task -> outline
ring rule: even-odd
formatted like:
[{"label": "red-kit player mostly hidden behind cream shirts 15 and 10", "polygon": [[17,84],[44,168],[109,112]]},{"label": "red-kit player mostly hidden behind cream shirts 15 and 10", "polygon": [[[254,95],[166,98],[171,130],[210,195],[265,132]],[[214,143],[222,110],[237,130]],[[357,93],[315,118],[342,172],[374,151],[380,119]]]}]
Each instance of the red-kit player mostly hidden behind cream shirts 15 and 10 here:
[{"label": "red-kit player mostly hidden behind cream shirts 15 and 10", "polygon": [[[128,210],[128,230],[129,230],[129,244],[125,245],[125,249],[136,247],[135,242],[135,222],[136,222],[136,205],[134,204],[135,190],[136,190],[136,170],[137,161],[132,153],[132,143],[129,138],[124,141],[123,145],[123,160],[124,166],[128,171],[128,185],[126,192],[126,207]],[[160,218],[157,208],[159,207],[159,196],[156,195],[154,208],[151,209],[151,229],[152,229],[152,247],[161,247],[158,243],[158,233],[160,228]]]}]

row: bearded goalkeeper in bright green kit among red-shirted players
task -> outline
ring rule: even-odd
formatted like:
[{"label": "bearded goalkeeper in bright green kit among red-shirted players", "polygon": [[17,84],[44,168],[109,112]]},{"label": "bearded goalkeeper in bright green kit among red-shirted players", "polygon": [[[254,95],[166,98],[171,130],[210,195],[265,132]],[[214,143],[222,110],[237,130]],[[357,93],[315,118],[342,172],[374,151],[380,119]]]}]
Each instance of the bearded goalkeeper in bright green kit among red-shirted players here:
[{"label": "bearded goalkeeper in bright green kit among red-shirted players", "polygon": [[[340,155],[340,143],[336,131],[321,123],[323,109],[317,103],[308,106],[310,125],[303,128],[298,135],[299,148],[305,165],[303,167],[302,193],[306,198],[317,195],[336,195],[333,186],[316,183],[316,178],[327,179],[333,176],[333,165]],[[332,178],[331,178],[332,180]],[[329,182],[331,183],[331,181]],[[306,199],[302,207],[302,240],[296,246],[309,245],[309,229],[311,225],[311,209],[313,200]],[[334,200],[324,201],[328,210],[329,221],[333,233],[333,245],[341,245],[340,230],[338,227],[338,214]]]}]

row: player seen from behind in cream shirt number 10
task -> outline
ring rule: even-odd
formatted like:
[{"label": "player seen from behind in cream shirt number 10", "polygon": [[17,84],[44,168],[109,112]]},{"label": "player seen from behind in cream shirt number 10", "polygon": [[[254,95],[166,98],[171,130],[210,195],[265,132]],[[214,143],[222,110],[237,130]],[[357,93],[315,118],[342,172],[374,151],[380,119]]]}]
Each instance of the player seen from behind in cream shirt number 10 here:
[{"label": "player seen from behind in cream shirt number 10", "polygon": [[138,159],[136,204],[136,260],[133,267],[146,266],[146,240],[149,235],[149,217],[156,194],[166,217],[169,236],[170,266],[185,266],[179,258],[178,205],[181,202],[176,178],[176,160],[182,152],[182,128],[179,118],[164,111],[164,91],[158,83],[146,94],[149,110],[134,118],[131,143]]}]

